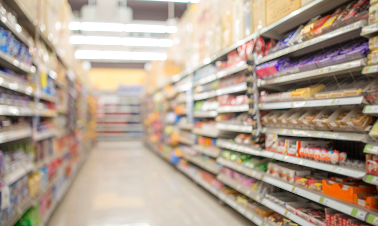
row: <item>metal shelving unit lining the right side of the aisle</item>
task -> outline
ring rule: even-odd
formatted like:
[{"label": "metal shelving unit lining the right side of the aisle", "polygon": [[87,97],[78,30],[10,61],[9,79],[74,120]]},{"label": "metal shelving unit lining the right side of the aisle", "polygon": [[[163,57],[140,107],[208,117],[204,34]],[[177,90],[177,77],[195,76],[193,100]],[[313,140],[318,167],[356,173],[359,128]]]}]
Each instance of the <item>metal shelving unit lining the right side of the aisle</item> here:
[{"label": "metal shelving unit lining the right side of the aisle", "polygon": [[[204,60],[204,63],[198,65],[195,68],[187,68],[186,70],[182,71],[178,76],[174,76],[172,81],[169,84],[175,84],[176,82],[180,81],[181,79],[185,78],[186,76],[196,72],[197,70],[201,69],[202,67],[208,64],[214,64],[217,60],[224,60],[225,55],[230,51],[236,49],[240,45],[254,39],[255,37],[261,36],[263,38],[273,38],[279,40],[283,38],[286,34],[291,32],[293,29],[298,27],[301,24],[306,23],[311,18],[317,15],[322,15],[328,13],[330,10],[333,10],[343,4],[350,2],[349,0],[342,0],[342,1],[326,1],[326,0],[314,0],[311,3],[305,5],[304,7],[292,12],[291,14],[277,20],[276,22],[260,29],[259,32],[251,34],[250,36],[246,37],[243,40],[231,45],[230,47],[213,54],[209,59]],[[367,25],[366,20],[358,21],[353,24],[347,25],[345,27],[339,28],[335,31],[330,33],[318,36],[311,40],[302,42],[300,44],[296,44],[290,46],[288,48],[279,50],[275,53],[269,54],[267,56],[260,57],[255,59],[255,63],[262,64],[266,63],[270,60],[278,59],[279,57],[283,56],[290,56],[290,57],[297,57],[306,55],[308,53],[313,53],[316,51],[324,50],[325,48],[339,45],[340,43],[349,41],[349,40],[359,40],[362,39],[361,37],[371,37],[378,35],[378,23],[374,25]],[[313,85],[317,84],[320,80],[325,81],[326,78],[335,78],[337,80],[338,76],[362,76],[366,74],[366,77],[369,79],[374,77],[374,75],[378,74],[378,65],[366,66],[366,58],[354,59],[348,62],[338,63],[326,67],[321,67],[313,70],[303,71],[303,72],[296,72],[284,76],[274,77],[266,80],[259,79],[258,87],[261,89],[267,89],[269,92],[272,90],[276,91],[287,91],[290,90],[293,86],[302,85],[305,87],[306,84]],[[218,72],[211,72],[207,76],[200,78],[198,81],[193,82],[193,86],[202,86],[204,85],[207,88],[206,84],[216,81],[220,78],[223,78],[228,75],[232,75],[234,73],[238,73],[239,71],[245,70],[248,67],[245,65],[245,62],[240,62],[240,65],[235,67],[230,67],[223,69]],[[373,78],[372,78],[373,79]],[[199,87],[197,91],[203,90],[202,87]],[[217,88],[215,90],[205,89],[206,91],[202,91],[199,93],[192,94],[193,101],[199,100],[206,100],[208,98],[217,97],[223,94],[234,94],[234,93],[243,93],[248,89],[247,83],[239,83],[239,84],[232,84],[227,87]],[[190,90],[188,87],[182,87],[179,91],[182,90]],[[214,98],[215,99],[215,98]],[[374,116],[378,116],[378,107],[374,105],[367,105],[368,102],[364,99],[362,95],[360,96],[349,96],[349,97],[340,97],[340,98],[329,98],[329,99],[308,99],[308,100],[298,100],[298,101],[282,101],[282,102],[267,102],[267,103],[260,103],[259,109],[260,110],[280,110],[280,109],[291,109],[291,108],[309,108],[309,107],[326,107],[326,106],[343,106],[343,105],[365,105],[364,113],[370,114]],[[270,159],[274,159],[280,162],[287,162],[292,163],[300,166],[305,166],[312,169],[318,169],[322,171],[327,171],[330,173],[335,173],[343,176],[350,176],[354,178],[363,179],[367,183],[376,184],[378,185],[378,177],[367,175],[365,171],[360,169],[353,169],[348,167],[343,167],[340,165],[332,165],[328,163],[317,162],[309,159],[298,158],[294,156],[287,156],[282,155],[279,153],[269,152],[258,148],[257,146],[253,145],[243,145],[237,144],[231,140],[227,140],[225,138],[234,138],[237,133],[245,133],[250,134],[253,133],[253,127],[242,124],[233,124],[230,120],[227,121],[217,121],[216,128],[209,128],[207,127],[206,123],[211,121],[212,118],[216,118],[220,116],[222,113],[228,112],[248,112],[250,111],[250,104],[243,104],[243,105],[227,105],[227,106],[219,106],[218,109],[214,109],[212,111],[205,111],[205,112],[193,112],[193,117],[196,118],[196,121],[200,119],[204,119],[203,122],[196,123],[198,127],[184,127],[180,126],[180,129],[187,129],[192,130],[192,133],[198,136],[205,136],[209,138],[217,138],[216,146],[222,149],[233,150],[241,153],[246,153],[254,156],[261,156]],[[190,112],[187,112],[190,114]],[[217,120],[219,120],[218,117]],[[202,128],[199,128],[200,125],[205,124]],[[365,145],[365,153],[371,154],[378,154],[378,142],[373,142],[367,133],[362,132],[339,132],[339,131],[322,131],[322,130],[306,130],[306,129],[293,129],[291,128],[273,128],[273,127],[264,127],[263,133],[270,133],[276,134],[281,136],[287,137],[298,137],[298,138],[312,138],[312,139],[327,139],[327,140],[335,140],[335,141],[349,141],[349,142],[362,142],[366,143]],[[304,128],[304,127],[303,127]],[[231,136],[231,134],[233,136]],[[324,195],[320,192],[313,191],[304,187],[298,187],[294,184],[282,181],[280,179],[274,178],[268,175],[265,172],[257,171],[255,169],[248,168],[244,165],[237,164],[235,162],[227,161],[221,157],[219,157],[218,152],[214,152],[214,147],[201,147],[199,145],[193,145],[192,151],[196,151],[198,153],[208,155],[213,158],[217,158],[216,162],[220,165],[225,167],[231,168],[235,171],[238,171],[244,175],[254,177],[258,180],[262,180],[266,183],[269,183],[273,186],[282,188],[288,192],[294,193],[299,195],[303,198],[311,200],[315,203],[319,203],[330,208],[334,208],[339,210],[345,214],[358,218],[360,220],[366,221],[373,225],[378,225],[378,214],[374,211],[370,211],[368,209],[359,207],[358,205],[347,203],[336,199],[334,197],[330,197]],[[205,169],[206,171],[211,171],[208,166],[204,165],[201,162],[198,162],[197,159],[193,156],[188,156],[187,154],[183,155],[183,158],[194,163],[195,165],[200,166],[201,168]],[[201,184],[199,179],[196,178],[196,175],[191,175],[190,172],[186,171],[181,166],[178,168],[187,174],[189,177],[194,179],[197,183]],[[223,174],[218,174],[217,179],[234,188],[235,190],[241,192],[242,194],[258,201],[259,203],[271,208],[272,210],[284,215],[285,217],[297,222],[300,225],[314,225],[306,221],[305,219],[299,217],[298,215],[287,211],[282,206],[277,205],[276,203],[270,201],[269,199],[265,198],[263,194],[259,194],[256,191],[253,191],[249,188],[244,187],[243,185],[239,184],[238,182],[234,181],[231,178],[227,178]],[[211,190],[212,188],[209,185],[202,185],[207,190]],[[228,204],[237,209],[238,204],[232,200],[229,200],[227,196],[221,194],[216,191],[211,191],[221,200],[228,200]],[[227,203],[227,202],[226,202]],[[238,210],[239,211],[239,210]],[[251,213],[245,213],[245,211],[240,208],[240,213],[243,215],[249,215]],[[248,216],[247,216],[248,217]],[[248,217],[250,218],[250,217]],[[270,223],[266,222],[262,218],[251,217],[252,219],[256,219],[254,221],[257,225],[267,225]],[[251,219],[250,218],[250,219]]]}]

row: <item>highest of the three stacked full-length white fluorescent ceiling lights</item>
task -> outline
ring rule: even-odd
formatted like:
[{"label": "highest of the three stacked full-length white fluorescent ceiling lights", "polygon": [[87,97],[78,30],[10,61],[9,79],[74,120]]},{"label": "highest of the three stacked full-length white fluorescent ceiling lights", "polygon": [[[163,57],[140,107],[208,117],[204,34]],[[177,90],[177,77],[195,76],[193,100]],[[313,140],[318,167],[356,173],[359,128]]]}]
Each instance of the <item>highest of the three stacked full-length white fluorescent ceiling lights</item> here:
[{"label": "highest of the three stacked full-length white fluorescent ceiling lights", "polygon": [[70,22],[68,28],[72,31],[100,32],[139,32],[139,33],[176,33],[175,26],[147,24],[117,24],[98,22]]}]

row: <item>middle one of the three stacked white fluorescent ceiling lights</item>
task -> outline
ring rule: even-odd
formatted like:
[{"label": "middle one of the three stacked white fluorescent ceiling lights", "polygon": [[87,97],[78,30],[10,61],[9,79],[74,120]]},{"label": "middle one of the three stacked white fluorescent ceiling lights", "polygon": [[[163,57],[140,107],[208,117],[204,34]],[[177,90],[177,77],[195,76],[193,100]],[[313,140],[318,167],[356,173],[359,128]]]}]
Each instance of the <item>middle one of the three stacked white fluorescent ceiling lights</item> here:
[{"label": "middle one of the three stacked white fluorescent ceiling lights", "polygon": [[107,46],[151,46],[151,47],[171,47],[173,41],[170,39],[150,39],[150,38],[120,38],[105,36],[82,36],[73,35],[70,38],[71,44],[75,45],[107,45]]}]

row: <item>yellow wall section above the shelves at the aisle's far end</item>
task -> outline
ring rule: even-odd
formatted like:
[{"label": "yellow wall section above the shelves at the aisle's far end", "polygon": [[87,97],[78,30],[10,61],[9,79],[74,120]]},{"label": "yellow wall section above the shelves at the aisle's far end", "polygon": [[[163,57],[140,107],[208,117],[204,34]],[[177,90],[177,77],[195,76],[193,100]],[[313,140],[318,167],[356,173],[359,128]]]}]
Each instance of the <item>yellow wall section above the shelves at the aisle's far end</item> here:
[{"label": "yellow wall section above the shelves at the aisle's far end", "polygon": [[145,85],[146,71],[144,69],[91,68],[89,79],[95,89],[116,90],[118,85]]}]

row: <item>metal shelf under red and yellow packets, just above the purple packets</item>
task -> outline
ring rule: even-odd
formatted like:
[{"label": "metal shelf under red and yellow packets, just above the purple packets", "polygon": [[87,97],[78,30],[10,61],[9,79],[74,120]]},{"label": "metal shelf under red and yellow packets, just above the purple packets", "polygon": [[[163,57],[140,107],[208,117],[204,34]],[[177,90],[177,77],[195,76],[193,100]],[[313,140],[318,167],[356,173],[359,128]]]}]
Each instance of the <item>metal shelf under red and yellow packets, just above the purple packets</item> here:
[{"label": "metal shelf under red and yellow packets, just above the purple packets", "polygon": [[259,63],[261,64],[261,63],[264,63],[269,60],[273,60],[273,59],[276,59],[278,57],[285,56],[285,55],[300,56],[302,54],[307,54],[308,52],[327,48],[329,46],[341,43],[343,41],[351,40],[353,38],[358,38],[360,36],[361,29],[365,27],[366,24],[367,24],[366,20],[355,22],[351,25],[345,26],[343,28],[329,32],[327,34],[318,36],[308,41],[296,44],[289,48],[279,50],[275,53],[264,56],[259,60]]}]

